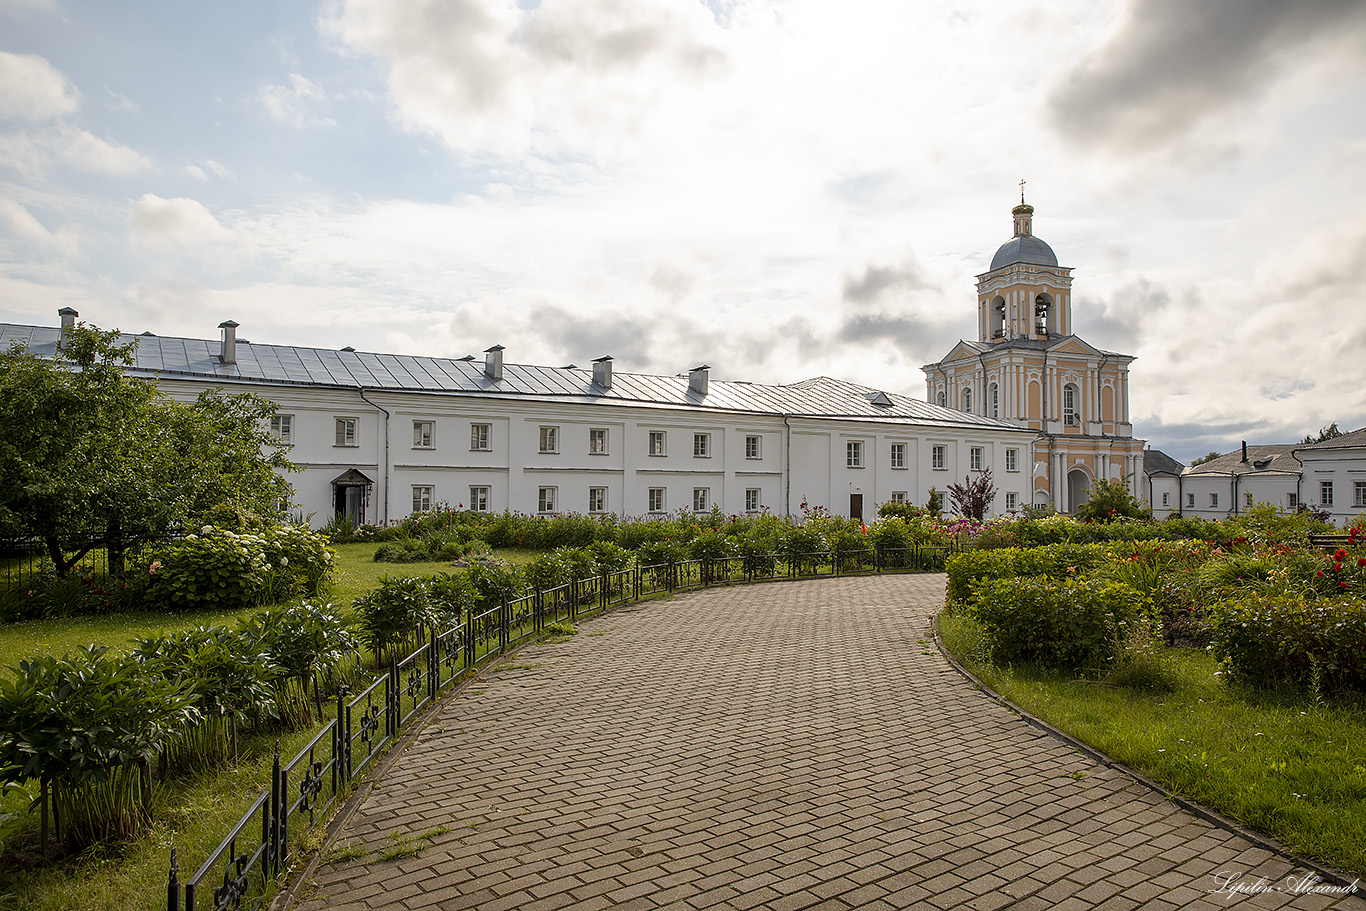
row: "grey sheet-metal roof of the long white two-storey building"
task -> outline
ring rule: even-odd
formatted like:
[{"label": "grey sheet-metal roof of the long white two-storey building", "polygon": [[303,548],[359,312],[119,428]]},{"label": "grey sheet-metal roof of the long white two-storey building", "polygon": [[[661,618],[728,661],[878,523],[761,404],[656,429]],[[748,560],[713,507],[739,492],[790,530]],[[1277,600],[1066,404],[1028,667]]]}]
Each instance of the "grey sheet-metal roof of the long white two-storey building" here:
[{"label": "grey sheet-metal roof of the long white two-storey building", "polygon": [[[20,343],[26,350],[52,356],[60,329],[0,324],[0,346]],[[897,423],[929,423],[952,428],[1022,430],[1004,421],[940,408],[938,406],[844,380],[814,377],[790,385],[712,380],[708,393],[688,388],[688,377],[613,372],[612,388],[593,382],[586,367],[542,367],[504,363],[503,378],[490,380],[479,361],[430,358],[369,351],[333,351],[295,346],[236,344],[236,363],[219,361],[219,341],[167,336],[124,335],[137,341],[130,373],[149,378],[201,380],[246,385],[306,385],[433,395],[507,396],[555,402],[694,407],[714,411],[836,417]]]}]

